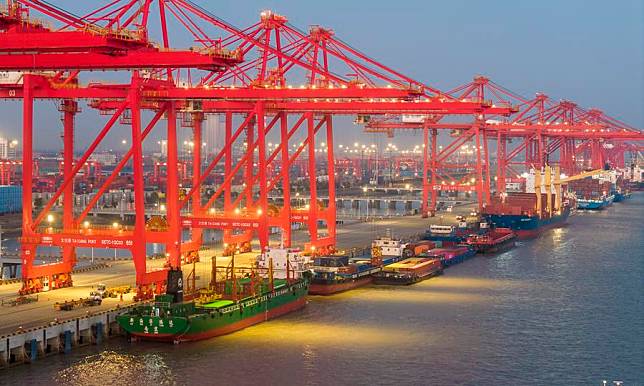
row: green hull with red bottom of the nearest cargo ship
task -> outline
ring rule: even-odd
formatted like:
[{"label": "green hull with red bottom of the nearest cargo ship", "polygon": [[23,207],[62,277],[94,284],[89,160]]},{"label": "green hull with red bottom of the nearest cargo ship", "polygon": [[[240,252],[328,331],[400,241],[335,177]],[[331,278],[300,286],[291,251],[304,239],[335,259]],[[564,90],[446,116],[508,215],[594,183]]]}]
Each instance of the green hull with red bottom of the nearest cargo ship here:
[{"label": "green hull with red bottom of the nearest cargo ship", "polygon": [[196,341],[230,334],[298,310],[306,305],[307,292],[308,282],[301,282],[227,307],[188,316],[126,313],[117,321],[135,340]]}]

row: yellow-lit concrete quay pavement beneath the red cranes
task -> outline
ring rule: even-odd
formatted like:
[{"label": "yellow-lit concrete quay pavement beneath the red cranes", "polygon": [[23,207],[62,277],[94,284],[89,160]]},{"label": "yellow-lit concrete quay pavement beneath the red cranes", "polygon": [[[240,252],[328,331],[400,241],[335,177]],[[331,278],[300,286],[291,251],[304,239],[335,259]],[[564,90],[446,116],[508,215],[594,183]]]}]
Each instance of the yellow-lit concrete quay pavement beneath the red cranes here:
[{"label": "yellow-lit concrete quay pavement beneath the red cranes", "polygon": [[[432,219],[423,219],[419,216],[396,217],[383,219],[375,222],[355,222],[342,225],[337,230],[338,249],[348,250],[353,247],[368,247],[371,241],[383,235],[387,229],[391,229],[395,237],[409,237],[424,232],[430,223],[454,223],[457,214],[467,213],[472,206],[455,208],[454,213],[443,213]],[[304,232],[294,233],[294,244],[298,245],[305,240]],[[205,286],[210,279],[211,257],[219,255],[220,250],[211,249],[201,253],[201,262],[195,265],[197,286]],[[256,253],[242,254],[236,257],[235,264],[243,266],[253,260]],[[230,258],[218,257],[217,265],[227,265]],[[163,260],[150,260],[148,267],[158,268],[163,266]],[[184,275],[188,275],[191,267],[184,267]],[[86,307],[72,311],[55,311],[54,303],[65,300],[87,297],[93,288],[99,283],[108,287],[121,285],[134,285],[134,265],[131,261],[118,261],[110,263],[110,267],[95,271],[89,271],[74,275],[74,287],[64,288],[56,291],[41,293],[38,295],[38,302],[21,306],[0,306],[0,335],[12,333],[19,327],[25,329],[47,324],[55,319],[64,320],[87,314],[88,312],[102,311],[114,308],[117,305],[133,303],[133,294],[128,294],[121,302],[119,299],[105,299],[98,307]],[[0,299],[7,301],[15,298],[20,284],[0,285]]]}]

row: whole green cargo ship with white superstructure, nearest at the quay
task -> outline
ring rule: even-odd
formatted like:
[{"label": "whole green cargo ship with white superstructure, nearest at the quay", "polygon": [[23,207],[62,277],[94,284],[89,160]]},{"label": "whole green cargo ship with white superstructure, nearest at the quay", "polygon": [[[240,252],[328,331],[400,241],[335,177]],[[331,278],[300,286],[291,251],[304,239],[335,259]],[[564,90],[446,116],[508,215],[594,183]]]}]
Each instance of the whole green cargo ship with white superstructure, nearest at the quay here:
[{"label": "whole green cargo ship with white superstructure, nearest at the quay", "polygon": [[209,288],[195,300],[157,295],[154,303],[135,307],[117,321],[132,340],[179,343],[229,334],[304,307],[309,289],[308,274],[301,270],[304,260],[281,253],[264,261],[264,266],[235,267],[233,254],[230,264],[217,267],[213,258]]}]

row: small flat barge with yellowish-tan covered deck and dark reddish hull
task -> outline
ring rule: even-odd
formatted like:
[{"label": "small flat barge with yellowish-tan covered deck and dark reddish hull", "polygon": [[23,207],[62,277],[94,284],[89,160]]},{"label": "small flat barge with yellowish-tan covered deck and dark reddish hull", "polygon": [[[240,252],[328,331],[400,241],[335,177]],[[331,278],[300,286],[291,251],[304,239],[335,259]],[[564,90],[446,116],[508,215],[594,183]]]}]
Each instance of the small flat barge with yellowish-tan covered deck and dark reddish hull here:
[{"label": "small flat barge with yellowish-tan covered deck and dark reddish hull", "polygon": [[440,259],[428,257],[411,257],[390,264],[373,275],[374,284],[410,285],[430,277],[440,275],[443,265]]}]

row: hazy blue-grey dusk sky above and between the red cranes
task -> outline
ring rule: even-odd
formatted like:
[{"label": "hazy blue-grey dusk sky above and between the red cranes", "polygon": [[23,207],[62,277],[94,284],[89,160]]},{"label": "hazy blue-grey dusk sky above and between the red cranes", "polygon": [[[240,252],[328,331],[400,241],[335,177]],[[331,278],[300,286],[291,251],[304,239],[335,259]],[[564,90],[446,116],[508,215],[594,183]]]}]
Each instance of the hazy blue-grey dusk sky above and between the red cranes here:
[{"label": "hazy blue-grey dusk sky above and between the red cranes", "polygon": [[[483,74],[521,95],[544,92],[644,127],[641,0],[196,2],[238,27],[253,24],[261,10],[272,9],[304,30],[311,24],[332,28],[371,57],[442,90]],[[78,1],[52,3],[77,13],[88,10],[79,9]],[[37,106],[36,148],[60,148],[55,104]],[[0,116],[0,135],[20,139],[20,104],[3,102]],[[88,144],[87,132],[104,122],[96,117],[83,113],[80,118],[79,126],[94,128],[79,127],[78,149]],[[336,131],[336,141],[368,140],[358,127],[346,126]],[[121,130],[126,136],[127,130]],[[110,146],[120,142],[119,135],[109,140]]]}]

